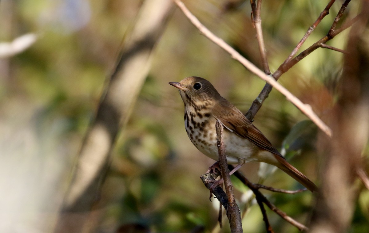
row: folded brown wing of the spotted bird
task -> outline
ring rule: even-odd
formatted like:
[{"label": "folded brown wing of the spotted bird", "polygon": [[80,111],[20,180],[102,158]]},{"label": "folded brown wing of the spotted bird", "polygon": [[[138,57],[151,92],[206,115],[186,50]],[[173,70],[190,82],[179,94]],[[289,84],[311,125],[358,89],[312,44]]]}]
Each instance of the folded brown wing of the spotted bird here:
[{"label": "folded brown wing of the spotted bird", "polygon": [[268,139],[242,114],[237,107],[233,106],[228,100],[223,99],[219,102],[220,107],[213,108],[213,116],[220,123],[234,132],[239,137],[247,138],[259,147],[266,149],[276,155],[279,151],[268,141]]}]

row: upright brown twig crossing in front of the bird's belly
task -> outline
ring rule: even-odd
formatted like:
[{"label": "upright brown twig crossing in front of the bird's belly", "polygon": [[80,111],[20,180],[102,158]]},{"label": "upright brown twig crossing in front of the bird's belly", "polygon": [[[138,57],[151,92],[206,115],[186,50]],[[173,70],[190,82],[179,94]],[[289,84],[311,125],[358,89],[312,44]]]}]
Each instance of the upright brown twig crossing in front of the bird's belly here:
[{"label": "upright brown twig crossing in front of the bird's belly", "polygon": [[219,155],[219,165],[221,168],[221,173],[224,181],[225,193],[228,196],[228,206],[225,208],[227,211],[227,217],[230,222],[232,233],[242,233],[242,220],[241,213],[239,211],[238,205],[236,203],[233,186],[227,166],[227,157],[225,156],[225,146],[223,142],[223,126],[220,121],[215,123],[215,130],[217,131],[217,147]]}]

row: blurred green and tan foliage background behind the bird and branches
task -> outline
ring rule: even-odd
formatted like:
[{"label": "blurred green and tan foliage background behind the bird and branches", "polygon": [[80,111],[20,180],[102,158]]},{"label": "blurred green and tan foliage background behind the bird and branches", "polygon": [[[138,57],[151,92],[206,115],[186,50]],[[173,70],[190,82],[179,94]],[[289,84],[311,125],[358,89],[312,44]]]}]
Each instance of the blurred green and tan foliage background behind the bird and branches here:
[{"label": "blurred green and tan foliage background behind the bird and branches", "polygon": [[[211,31],[261,68],[248,1],[184,3]],[[83,138],[141,4],[131,0],[1,1],[0,42],[26,33],[35,33],[37,39],[24,52],[0,59],[0,232],[52,232]],[[272,72],[326,4],[263,2],[262,26]],[[328,32],[340,4],[332,6],[331,14],[301,49]],[[353,1],[344,18],[354,17],[358,9]],[[329,45],[345,49],[347,33]],[[202,36],[177,8],[152,56],[149,75],[111,152],[99,201],[91,212],[91,229],[227,232],[228,220],[219,230],[219,204],[214,198],[209,201],[209,191],[199,178],[214,161],[187,138],[182,100],[168,82],[188,76],[206,78],[244,113],[265,83]],[[329,92],[334,92],[342,64],[341,53],[317,49],[279,81],[321,116],[330,107],[322,99],[335,98]],[[315,151],[317,129],[306,120],[273,90],[254,124],[276,148],[284,148],[293,166],[317,181],[321,156]],[[263,176],[258,163],[244,165],[242,172],[253,182],[261,179],[260,173]],[[265,178],[264,184],[276,188],[302,187],[279,170]],[[244,232],[265,232],[259,207],[255,201],[248,203],[248,190],[234,182]],[[311,214],[311,193],[264,193],[302,223]],[[368,202],[369,192],[364,190],[358,196],[350,232],[368,229]],[[298,232],[267,211],[276,232]]]}]

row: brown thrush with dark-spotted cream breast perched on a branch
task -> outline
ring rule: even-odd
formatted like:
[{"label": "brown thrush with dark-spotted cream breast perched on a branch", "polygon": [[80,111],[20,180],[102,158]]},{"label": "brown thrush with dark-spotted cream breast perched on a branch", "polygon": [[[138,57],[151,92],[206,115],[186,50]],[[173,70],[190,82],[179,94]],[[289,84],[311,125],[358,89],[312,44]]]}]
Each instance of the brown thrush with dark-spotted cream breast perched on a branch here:
[{"label": "brown thrush with dark-spotted cream breast perched on a branch", "polygon": [[218,160],[215,123],[223,127],[223,140],[228,164],[237,164],[230,174],[244,163],[263,162],[274,165],[311,192],[317,186],[293,167],[245,115],[204,78],[192,76],[168,84],[179,89],[184,103],[184,126],[190,141],[204,155]]}]

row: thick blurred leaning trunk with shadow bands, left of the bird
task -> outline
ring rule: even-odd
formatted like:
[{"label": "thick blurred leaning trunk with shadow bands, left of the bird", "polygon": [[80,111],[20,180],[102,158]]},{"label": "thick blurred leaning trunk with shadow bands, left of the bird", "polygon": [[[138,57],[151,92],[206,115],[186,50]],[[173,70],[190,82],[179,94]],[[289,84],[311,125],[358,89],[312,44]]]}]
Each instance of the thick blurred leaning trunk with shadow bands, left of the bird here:
[{"label": "thick blurred leaning trunk with shadow bands, left of the bird", "polygon": [[84,227],[99,196],[110,152],[148,74],[154,46],[164,31],[172,6],[171,0],[144,1],[83,141],[55,232],[86,232]]}]

